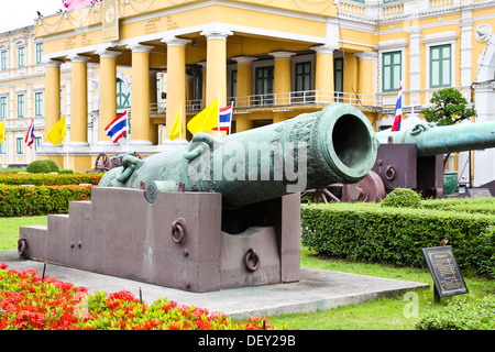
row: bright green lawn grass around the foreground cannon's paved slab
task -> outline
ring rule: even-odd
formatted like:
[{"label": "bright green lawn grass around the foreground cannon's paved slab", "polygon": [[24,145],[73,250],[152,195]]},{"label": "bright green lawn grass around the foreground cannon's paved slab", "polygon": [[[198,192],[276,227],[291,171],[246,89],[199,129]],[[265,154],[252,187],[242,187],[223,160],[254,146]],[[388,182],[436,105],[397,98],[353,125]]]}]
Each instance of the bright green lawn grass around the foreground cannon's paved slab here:
[{"label": "bright green lawn grass around the foreground cannon's paved slab", "polygon": [[[46,226],[46,223],[47,217],[0,218],[0,252],[16,250],[19,227]],[[495,280],[471,277],[464,274],[470,293],[468,295],[444,297],[439,304],[436,304],[433,301],[433,279],[427,268],[352,263],[328,258],[306,248],[301,248],[300,266],[426,283],[430,285],[430,288],[417,289],[411,294],[414,298],[417,298],[418,302],[417,317],[410,317],[411,312],[414,312],[408,309],[411,300],[405,299],[408,296],[402,294],[327,311],[267,317],[274,326],[286,326],[288,329],[300,330],[414,330],[420,319],[433,310],[444,308],[452,299],[460,299],[465,296],[476,299],[485,295],[495,295]]]}]

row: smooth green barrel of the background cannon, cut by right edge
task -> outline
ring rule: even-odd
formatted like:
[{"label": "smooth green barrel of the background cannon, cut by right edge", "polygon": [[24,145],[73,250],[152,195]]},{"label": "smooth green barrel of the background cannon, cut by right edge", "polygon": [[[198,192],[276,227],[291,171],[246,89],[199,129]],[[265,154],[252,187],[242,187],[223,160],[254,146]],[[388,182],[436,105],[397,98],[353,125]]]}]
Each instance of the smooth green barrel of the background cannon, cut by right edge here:
[{"label": "smooth green barrel of the background cannon, cut by right edge", "polygon": [[381,144],[416,144],[418,157],[495,147],[495,122],[443,127],[416,127],[397,132],[377,132]]}]

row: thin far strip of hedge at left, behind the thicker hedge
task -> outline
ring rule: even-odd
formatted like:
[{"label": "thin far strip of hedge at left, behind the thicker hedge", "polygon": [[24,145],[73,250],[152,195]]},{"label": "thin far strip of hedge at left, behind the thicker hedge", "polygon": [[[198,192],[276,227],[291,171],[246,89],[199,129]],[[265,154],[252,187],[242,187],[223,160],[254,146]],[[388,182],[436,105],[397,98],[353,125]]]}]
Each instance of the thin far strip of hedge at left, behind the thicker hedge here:
[{"label": "thin far strip of hedge at left, behind the thicker hedge", "polygon": [[35,186],[62,186],[62,185],[98,185],[105,173],[100,174],[0,174],[0,184],[6,185],[35,185]]}]

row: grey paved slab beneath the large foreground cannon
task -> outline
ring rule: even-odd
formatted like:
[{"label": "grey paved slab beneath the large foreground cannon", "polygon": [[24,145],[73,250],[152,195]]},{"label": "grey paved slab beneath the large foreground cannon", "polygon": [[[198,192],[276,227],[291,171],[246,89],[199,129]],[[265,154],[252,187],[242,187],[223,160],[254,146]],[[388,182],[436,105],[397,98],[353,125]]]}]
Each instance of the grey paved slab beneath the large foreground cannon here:
[{"label": "grey paved slab beneath the large foreground cannon", "polygon": [[[43,272],[43,263],[22,260],[16,252],[1,252],[0,263],[9,268],[35,268]],[[231,318],[264,317],[293,312],[326,310],[338,306],[362,304],[377,297],[405,293],[428,284],[344,274],[314,268],[300,268],[300,280],[213,293],[189,293],[146,283],[100,275],[48,263],[45,275],[85,286],[90,293],[129,290],[152,304],[166,297],[179,305],[193,305],[210,311],[220,311]]]}]

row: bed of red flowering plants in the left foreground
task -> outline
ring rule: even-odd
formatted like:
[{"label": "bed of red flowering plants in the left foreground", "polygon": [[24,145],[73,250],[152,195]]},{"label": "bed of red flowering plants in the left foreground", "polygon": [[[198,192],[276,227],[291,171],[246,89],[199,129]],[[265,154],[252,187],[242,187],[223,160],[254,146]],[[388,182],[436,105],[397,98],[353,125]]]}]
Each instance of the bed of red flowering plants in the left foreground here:
[{"label": "bed of red flowering plants in the left foreground", "polygon": [[179,306],[160,298],[152,305],[130,292],[88,294],[35,270],[8,270],[0,263],[1,330],[261,330],[266,318],[234,321],[223,314]]}]

